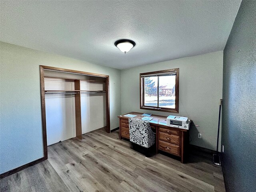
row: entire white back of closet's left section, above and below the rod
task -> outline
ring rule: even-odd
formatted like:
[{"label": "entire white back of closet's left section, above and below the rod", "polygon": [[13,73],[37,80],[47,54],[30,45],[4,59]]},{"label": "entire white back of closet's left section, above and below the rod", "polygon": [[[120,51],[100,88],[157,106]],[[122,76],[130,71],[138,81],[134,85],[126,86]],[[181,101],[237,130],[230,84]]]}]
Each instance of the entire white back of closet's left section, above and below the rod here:
[{"label": "entire white back of closet's left section, above and below the rod", "polygon": [[[45,90],[74,90],[74,82],[45,79]],[[47,145],[76,136],[74,94],[45,94]]]}]

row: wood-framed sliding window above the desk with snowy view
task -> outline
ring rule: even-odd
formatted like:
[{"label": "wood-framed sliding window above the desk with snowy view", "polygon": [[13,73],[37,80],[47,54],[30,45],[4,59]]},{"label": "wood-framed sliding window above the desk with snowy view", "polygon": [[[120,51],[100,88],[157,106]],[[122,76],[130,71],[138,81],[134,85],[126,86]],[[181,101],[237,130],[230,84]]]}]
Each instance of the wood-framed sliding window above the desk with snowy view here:
[{"label": "wood-framed sliding window above the desk with snowy view", "polygon": [[140,108],[179,112],[179,69],[140,74]]}]

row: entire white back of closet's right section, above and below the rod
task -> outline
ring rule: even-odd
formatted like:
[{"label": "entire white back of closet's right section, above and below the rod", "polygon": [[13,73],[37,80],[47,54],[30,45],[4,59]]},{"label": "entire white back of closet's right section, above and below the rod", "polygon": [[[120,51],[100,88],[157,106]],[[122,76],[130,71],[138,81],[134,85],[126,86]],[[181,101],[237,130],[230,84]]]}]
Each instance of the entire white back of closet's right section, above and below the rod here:
[{"label": "entire white back of closet's right section, above and below the rod", "polygon": [[[81,90],[104,91],[104,83],[80,84]],[[81,91],[82,134],[106,126],[106,93],[85,93]]]}]

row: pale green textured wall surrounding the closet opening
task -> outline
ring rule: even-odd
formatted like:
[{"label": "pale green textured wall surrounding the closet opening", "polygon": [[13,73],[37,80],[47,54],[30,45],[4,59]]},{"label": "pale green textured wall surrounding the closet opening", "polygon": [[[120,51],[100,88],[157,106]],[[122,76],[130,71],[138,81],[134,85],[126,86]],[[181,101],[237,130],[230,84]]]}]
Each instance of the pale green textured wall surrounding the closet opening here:
[{"label": "pale green textured wall surrounding the closet opening", "polygon": [[120,70],[0,42],[0,173],[43,157],[39,65],[110,76],[110,128],[119,126]]}]

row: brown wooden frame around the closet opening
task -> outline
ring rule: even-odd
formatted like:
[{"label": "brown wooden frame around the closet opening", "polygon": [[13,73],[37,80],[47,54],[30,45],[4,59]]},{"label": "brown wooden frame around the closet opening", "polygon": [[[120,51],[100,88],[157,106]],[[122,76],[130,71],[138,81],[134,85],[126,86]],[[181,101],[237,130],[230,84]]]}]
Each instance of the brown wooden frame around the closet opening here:
[{"label": "brown wooden frame around the closet opening", "polygon": [[106,132],[110,133],[110,107],[109,107],[110,104],[109,104],[109,76],[108,75],[40,65],[40,84],[41,84],[41,105],[42,105],[42,128],[43,128],[43,142],[44,142],[44,160],[46,160],[48,158],[47,134],[46,134],[45,92],[44,92],[44,70],[45,69],[46,70],[54,70],[54,71],[60,71],[60,72],[70,72],[70,73],[76,73],[76,74],[82,74],[82,75],[90,75],[90,76],[98,76],[98,77],[106,78],[106,123],[107,123]]}]

